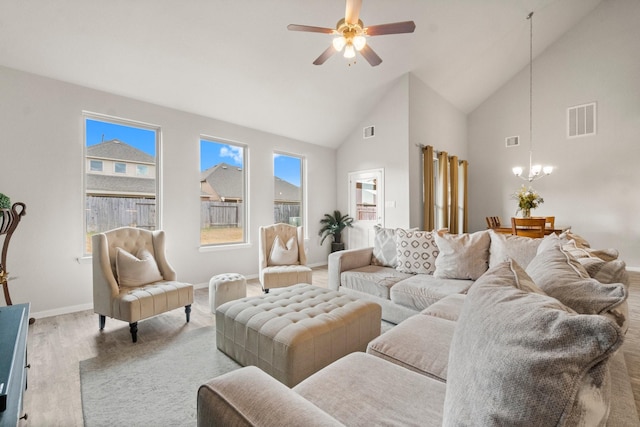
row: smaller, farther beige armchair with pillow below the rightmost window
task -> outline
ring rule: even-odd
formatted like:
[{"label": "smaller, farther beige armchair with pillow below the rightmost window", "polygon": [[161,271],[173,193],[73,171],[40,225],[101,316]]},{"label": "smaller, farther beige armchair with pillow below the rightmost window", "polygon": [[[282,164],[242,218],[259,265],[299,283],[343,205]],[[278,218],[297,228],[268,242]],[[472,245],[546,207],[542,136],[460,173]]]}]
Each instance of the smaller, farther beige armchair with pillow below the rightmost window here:
[{"label": "smaller, farther beige armchair with pillow below the rightmost window", "polygon": [[260,227],[259,274],[265,292],[298,283],[311,284],[304,251],[304,229],[289,224]]}]

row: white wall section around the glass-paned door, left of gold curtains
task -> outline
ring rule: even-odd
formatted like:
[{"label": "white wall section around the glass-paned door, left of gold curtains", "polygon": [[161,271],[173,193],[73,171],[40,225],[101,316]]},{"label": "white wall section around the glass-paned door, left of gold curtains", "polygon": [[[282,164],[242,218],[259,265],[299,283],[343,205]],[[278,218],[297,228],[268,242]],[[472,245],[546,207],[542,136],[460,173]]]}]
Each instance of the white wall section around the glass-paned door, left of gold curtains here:
[{"label": "white wall section around the glass-paned door, left of gold curtains", "polygon": [[[422,228],[422,153],[417,145],[467,156],[466,115],[412,74],[398,78],[371,113],[338,148],[337,184],[341,209],[348,206],[349,172],[383,168],[386,227]],[[362,128],[375,125],[376,137]]]}]

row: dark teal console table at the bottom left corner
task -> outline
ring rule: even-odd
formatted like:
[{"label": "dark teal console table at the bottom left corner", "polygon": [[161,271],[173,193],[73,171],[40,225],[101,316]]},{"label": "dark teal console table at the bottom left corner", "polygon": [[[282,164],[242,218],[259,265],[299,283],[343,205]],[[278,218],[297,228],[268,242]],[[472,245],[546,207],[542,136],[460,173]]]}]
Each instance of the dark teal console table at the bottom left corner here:
[{"label": "dark teal console table at the bottom left corner", "polygon": [[15,427],[27,388],[29,304],[0,307],[0,427]]}]

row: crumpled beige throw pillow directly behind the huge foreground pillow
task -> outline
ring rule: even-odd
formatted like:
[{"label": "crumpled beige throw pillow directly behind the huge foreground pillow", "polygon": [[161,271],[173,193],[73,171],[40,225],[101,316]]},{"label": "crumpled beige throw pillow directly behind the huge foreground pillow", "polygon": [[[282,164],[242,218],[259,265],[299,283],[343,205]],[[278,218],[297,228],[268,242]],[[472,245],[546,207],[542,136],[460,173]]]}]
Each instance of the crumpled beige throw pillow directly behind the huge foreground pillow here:
[{"label": "crumpled beige throw pillow directly behind the huge foreground pillow", "polygon": [[627,298],[623,284],[603,284],[590,278],[575,258],[562,251],[559,240],[544,248],[543,245],[545,242],[540,244],[538,255],[526,272],[548,295],[582,314],[604,313]]}]

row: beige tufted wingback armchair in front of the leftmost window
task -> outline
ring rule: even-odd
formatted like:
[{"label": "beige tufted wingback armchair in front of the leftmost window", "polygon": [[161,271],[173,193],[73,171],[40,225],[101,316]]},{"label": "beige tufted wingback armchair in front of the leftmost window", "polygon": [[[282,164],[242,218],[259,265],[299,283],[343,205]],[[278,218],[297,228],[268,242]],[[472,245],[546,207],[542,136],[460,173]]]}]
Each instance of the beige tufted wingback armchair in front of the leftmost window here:
[{"label": "beige tufted wingback armchair in front of the leftmost window", "polygon": [[164,231],[133,227],[93,235],[93,310],[100,330],[107,316],[124,320],[136,342],[139,320],[179,307],[189,322],[193,285],[177,281],[164,242]]}]

